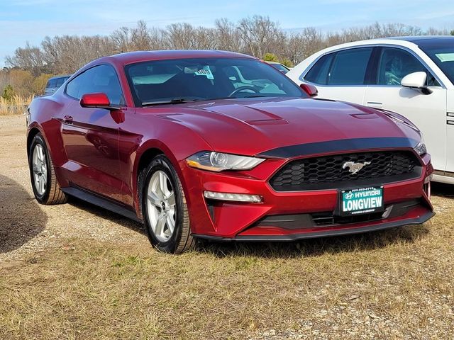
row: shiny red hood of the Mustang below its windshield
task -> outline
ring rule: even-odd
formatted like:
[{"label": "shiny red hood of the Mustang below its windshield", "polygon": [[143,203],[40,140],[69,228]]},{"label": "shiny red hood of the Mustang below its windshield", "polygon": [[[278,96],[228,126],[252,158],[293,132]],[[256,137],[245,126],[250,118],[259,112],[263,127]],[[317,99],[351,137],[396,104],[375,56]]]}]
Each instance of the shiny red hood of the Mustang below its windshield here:
[{"label": "shiny red hood of the Mustang below its windshield", "polygon": [[236,154],[254,155],[291,145],[377,137],[405,138],[414,146],[421,139],[419,130],[400,115],[394,117],[373,108],[321,99],[228,99],[184,103],[164,111],[160,118],[198,132],[216,151]]}]

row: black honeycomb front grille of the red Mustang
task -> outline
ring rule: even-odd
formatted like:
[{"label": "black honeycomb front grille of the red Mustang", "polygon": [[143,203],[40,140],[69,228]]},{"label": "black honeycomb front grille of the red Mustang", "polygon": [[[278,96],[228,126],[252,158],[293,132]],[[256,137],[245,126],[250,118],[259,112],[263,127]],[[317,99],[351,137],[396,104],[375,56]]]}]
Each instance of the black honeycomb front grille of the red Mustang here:
[{"label": "black honeycomb front grille of the red Mustang", "polygon": [[[367,163],[357,174],[345,162]],[[359,152],[296,159],[272,176],[275,191],[305,191],[373,186],[421,176],[421,164],[410,151]]]}]

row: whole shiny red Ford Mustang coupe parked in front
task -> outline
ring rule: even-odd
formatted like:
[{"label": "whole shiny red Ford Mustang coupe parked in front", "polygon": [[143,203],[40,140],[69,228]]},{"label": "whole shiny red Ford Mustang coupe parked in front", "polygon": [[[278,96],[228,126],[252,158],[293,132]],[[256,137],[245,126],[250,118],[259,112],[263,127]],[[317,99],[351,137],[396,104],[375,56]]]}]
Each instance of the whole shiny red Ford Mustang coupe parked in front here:
[{"label": "whole shiny red Ford Mustang coupe parked in front", "polygon": [[433,216],[430,156],[409,120],[309,98],[233,52],[95,60],[31,103],[27,146],[40,203],[75,196],[126,215],[162,251],[196,238],[290,241]]}]

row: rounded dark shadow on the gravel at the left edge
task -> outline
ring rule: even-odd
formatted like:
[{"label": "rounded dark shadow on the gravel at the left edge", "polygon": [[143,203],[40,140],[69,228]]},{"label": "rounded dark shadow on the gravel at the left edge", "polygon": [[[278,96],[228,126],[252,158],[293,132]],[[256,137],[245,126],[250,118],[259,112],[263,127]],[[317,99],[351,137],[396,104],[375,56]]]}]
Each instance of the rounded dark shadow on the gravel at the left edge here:
[{"label": "rounded dark shadow on the gravel at the left edge", "polygon": [[0,254],[18,249],[40,234],[47,219],[23,186],[0,175]]}]

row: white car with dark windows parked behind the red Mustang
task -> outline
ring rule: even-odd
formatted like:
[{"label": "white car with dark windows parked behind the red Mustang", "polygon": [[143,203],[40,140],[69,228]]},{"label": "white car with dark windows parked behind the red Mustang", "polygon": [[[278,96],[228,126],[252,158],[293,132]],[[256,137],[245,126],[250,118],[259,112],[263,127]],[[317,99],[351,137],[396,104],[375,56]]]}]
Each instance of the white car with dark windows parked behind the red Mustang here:
[{"label": "white car with dark windows parked behind the red Mustang", "polygon": [[326,48],[287,73],[319,98],[394,111],[423,132],[436,169],[454,183],[454,37],[364,40]]}]

